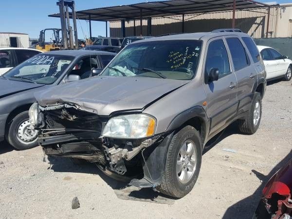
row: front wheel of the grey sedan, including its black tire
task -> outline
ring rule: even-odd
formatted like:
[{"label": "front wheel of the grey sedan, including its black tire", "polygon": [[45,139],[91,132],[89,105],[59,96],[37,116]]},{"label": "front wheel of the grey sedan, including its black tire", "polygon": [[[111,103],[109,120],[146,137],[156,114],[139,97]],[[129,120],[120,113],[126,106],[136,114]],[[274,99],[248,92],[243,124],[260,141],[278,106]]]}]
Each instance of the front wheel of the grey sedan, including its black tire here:
[{"label": "front wheel of the grey sedan, including its black tire", "polygon": [[26,150],[37,146],[37,132],[29,128],[28,119],[28,111],[23,111],[9,121],[6,140],[18,150]]}]

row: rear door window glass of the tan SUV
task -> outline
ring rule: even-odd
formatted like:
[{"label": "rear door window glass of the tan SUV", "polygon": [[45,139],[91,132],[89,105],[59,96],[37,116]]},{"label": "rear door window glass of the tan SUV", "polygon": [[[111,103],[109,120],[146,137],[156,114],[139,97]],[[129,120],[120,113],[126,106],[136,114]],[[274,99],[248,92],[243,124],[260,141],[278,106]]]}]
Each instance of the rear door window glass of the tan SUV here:
[{"label": "rear door window glass of the tan SUV", "polygon": [[238,71],[249,65],[245,49],[238,38],[228,38],[227,44],[232,56],[234,70]]}]

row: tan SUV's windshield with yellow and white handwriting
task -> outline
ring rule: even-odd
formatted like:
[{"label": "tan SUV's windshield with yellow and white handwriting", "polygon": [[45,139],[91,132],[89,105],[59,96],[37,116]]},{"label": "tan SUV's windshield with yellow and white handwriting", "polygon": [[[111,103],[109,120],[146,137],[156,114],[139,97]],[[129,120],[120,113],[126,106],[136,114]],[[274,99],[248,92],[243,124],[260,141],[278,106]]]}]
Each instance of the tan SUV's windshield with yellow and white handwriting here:
[{"label": "tan SUV's windshield with yellow and white handwriting", "polygon": [[200,40],[148,41],[128,45],[102,75],[190,80],[200,58]]}]

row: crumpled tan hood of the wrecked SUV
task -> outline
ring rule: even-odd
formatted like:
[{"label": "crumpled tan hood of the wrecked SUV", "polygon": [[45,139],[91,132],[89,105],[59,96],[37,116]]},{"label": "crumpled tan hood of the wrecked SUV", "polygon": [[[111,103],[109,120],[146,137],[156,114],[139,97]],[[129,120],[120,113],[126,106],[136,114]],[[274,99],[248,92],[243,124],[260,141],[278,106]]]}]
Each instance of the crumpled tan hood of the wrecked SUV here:
[{"label": "crumpled tan hood of the wrecked SUV", "polygon": [[187,84],[185,80],[150,77],[94,77],[35,93],[43,106],[71,103],[99,115],[141,110],[165,94]]}]

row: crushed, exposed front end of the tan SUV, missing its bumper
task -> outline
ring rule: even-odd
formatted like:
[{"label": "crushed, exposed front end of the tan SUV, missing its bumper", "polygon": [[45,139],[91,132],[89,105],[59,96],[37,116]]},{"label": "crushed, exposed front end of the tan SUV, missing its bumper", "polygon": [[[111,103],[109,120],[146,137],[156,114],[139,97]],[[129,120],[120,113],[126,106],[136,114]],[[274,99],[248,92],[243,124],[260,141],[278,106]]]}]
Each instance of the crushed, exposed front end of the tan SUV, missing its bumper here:
[{"label": "crushed, exposed front end of the tan SUV, missing its bumper", "polygon": [[171,133],[143,138],[105,137],[102,132],[110,116],[70,103],[38,106],[37,113],[38,143],[46,155],[96,163],[106,174],[131,180],[130,184],[138,187],[161,184]]}]

